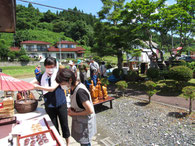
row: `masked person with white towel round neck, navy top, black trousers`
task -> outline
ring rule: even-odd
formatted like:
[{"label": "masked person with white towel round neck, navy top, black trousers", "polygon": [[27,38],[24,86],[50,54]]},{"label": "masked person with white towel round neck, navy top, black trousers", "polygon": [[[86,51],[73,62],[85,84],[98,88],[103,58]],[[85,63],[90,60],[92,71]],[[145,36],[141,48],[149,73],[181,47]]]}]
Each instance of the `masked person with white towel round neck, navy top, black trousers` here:
[{"label": "masked person with white towel round neck, navy top, black trousers", "polygon": [[44,66],[45,73],[31,83],[34,85],[35,89],[43,90],[45,111],[58,132],[59,118],[63,137],[66,139],[67,146],[69,146],[70,132],[68,128],[67,103],[64,90],[55,81],[58,72],[56,59],[47,57]]}]

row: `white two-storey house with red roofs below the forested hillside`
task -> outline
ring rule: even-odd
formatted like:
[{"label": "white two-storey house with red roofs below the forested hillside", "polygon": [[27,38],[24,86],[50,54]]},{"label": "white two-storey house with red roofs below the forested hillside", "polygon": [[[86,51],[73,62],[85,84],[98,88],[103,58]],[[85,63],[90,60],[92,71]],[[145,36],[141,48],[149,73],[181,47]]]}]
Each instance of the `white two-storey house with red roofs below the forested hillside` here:
[{"label": "white two-storey house with red roofs below the forested hillside", "polygon": [[43,41],[23,41],[21,42],[28,55],[32,58],[46,58],[48,56],[60,59],[82,57],[85,49],[77,47],[77,43],[71,41],[60,41],[54,46],[51,46],[49,42]]}]

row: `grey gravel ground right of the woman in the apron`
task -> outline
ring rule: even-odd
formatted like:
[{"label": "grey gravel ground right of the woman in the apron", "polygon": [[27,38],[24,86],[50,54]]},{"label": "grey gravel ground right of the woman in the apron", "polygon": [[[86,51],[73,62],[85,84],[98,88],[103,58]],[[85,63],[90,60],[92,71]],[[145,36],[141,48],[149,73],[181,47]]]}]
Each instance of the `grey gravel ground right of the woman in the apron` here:
[{"label": "grey gravel ground right of the woman in the apron", "polygon": [[99,139],[110,137],[121,146],[195,145],[194,114],[176,118],[183,116],[177,113],[182,111],[127,97],[116,99],[113,109],[103,106],[96,110]]}]

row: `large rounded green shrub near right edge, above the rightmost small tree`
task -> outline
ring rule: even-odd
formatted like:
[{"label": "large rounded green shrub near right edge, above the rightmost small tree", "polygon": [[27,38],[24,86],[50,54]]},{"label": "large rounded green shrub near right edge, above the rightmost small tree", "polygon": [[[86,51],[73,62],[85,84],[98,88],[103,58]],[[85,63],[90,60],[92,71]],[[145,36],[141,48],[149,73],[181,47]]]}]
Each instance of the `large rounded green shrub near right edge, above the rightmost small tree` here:
[{"label": "large rounded green shrub near right edge, above the rightmost small tree", "polygon": [[193,72],[186,66],[175,66],[169,71],[170,78],[178,82],[188,82],[193,77]]}]

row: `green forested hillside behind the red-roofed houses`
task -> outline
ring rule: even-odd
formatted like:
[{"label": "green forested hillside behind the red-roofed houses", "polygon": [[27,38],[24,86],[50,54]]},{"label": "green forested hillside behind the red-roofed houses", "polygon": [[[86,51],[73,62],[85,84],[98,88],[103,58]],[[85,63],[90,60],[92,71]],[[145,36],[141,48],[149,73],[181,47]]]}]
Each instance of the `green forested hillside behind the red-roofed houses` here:
[{"label": "green forested hillside behind the red-roofed houses", "polygon": [[16,7],[16,33],[0,33],[0,39],[7,46],[19,46],[21,41],[40,40],[52,44],[61,40],[72,40],[79,45],[94,45],[94,23],[97,19],[91,14],[85,14],[75,7],[73,10],[45,13],[28,7]]}]

